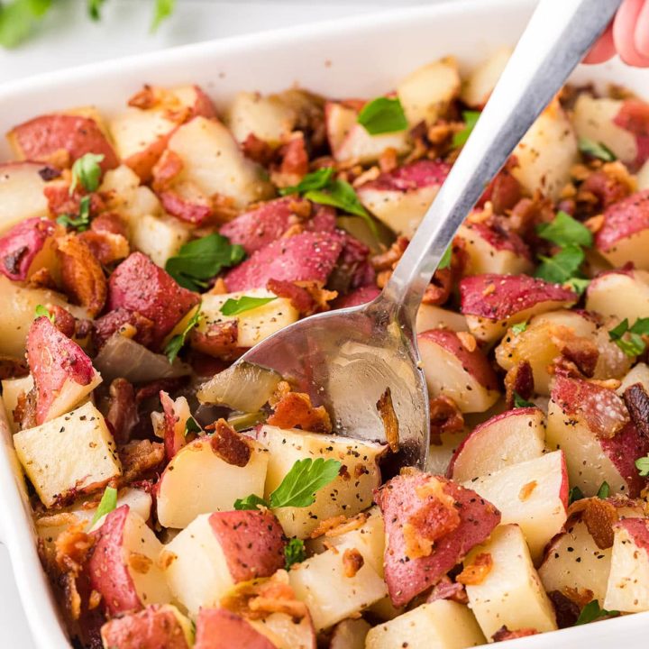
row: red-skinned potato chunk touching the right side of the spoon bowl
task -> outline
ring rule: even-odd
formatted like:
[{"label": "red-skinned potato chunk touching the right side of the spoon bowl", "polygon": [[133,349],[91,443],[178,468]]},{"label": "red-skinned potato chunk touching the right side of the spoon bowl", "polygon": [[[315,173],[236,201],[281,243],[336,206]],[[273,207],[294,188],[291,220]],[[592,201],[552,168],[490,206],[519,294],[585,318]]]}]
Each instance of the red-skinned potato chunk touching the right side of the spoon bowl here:
[{"label": "red-skinned potato chunk touching the right side of the spoon bowl", "polygon": [[431,397],[452,398],[462,412],[484,412],[496,403],[498,377],[477,346],[470,351],[448,329],[418,334],[417,345]]}]

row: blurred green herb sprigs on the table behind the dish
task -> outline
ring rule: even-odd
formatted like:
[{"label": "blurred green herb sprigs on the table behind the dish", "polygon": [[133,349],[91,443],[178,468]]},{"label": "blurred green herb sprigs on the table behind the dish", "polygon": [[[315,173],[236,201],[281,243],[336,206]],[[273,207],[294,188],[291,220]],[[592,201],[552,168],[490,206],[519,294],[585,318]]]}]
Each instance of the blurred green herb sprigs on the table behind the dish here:
[{"label": "blurred green herb sprigs on the table behind the dish", "polygon": [[[101,10],[109,0],[86,0],[88,16],[101,20]],[[0,0],[0,47],[14,48],[28,39],[50,10],[55,11],[52,0]],[[153,0],[151,32],[169,18],[176,8],[176,0]]]}]

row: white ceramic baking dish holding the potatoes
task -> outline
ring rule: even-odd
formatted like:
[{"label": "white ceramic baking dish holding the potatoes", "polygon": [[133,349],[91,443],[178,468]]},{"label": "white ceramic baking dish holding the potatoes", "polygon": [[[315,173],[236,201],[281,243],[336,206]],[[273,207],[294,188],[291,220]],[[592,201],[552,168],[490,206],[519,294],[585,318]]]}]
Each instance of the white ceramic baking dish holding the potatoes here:
[{"label": "white ceramic baking dish holding the potatoes", "polygon": [[[121,110],[125,97],[143,82],[196,82],[206,88],[217,105],[226,104],[238,90],[276,91],[295,83],[329,96],[375,96],[428,60],[454,54],[463,66],[470,67],[490,50],[513,44],[534,4],[532,0],[469,0],[416,7],[206,42],[29,78],[0,87],[0,131],[4,133],[37,114],[75,105],[95,104],[110,114]],[[575,78],[612,81],[642,95],[649,71],[626,69],[613,62],[580,69]],[[3,139],[0,160],[8,157]],[[38,560],[23,478],[2,415],[0,432],[0,538],[12,557],[36,644],[41,649],[69,649]],[[644,613],[519,639],[513,646],[571,649],[588,644],[590,649],[599,649],[623,640],[626,646],[635,647],[644,644],[647,628],[649,614]],[[0,646],[5,647],[2,636],[0,631]]]}]

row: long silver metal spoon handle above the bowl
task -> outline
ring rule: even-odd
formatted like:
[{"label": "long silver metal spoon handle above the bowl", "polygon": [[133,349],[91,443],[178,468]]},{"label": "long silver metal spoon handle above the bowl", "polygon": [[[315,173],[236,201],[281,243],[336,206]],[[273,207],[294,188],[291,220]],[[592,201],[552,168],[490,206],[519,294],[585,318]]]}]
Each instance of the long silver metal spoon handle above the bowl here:
[{"label": "long silver metal spoon handle above the bowl", "polygon": [[[471,208],[604,32],[621,0],[541,0],[471,137],[383,290],[414,326],[425,288]],[[392,309],[390,309],[392,310]]]}]

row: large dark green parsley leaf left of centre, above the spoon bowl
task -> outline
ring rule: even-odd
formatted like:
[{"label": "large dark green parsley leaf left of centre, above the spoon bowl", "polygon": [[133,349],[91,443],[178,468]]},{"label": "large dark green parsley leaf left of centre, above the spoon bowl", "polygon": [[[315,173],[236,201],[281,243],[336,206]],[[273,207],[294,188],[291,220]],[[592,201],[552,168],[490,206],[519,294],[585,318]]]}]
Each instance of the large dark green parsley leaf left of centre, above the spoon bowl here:
[{"label": "large dark green parsley leaf left of centre, above the spoon bowl", "polygon": [[240,245],[212,233],[182,246],[175,257],[169,257],[165,270],[181,287],[200,292],[206,288],[206,280],[238,264],[244,256]]}]

